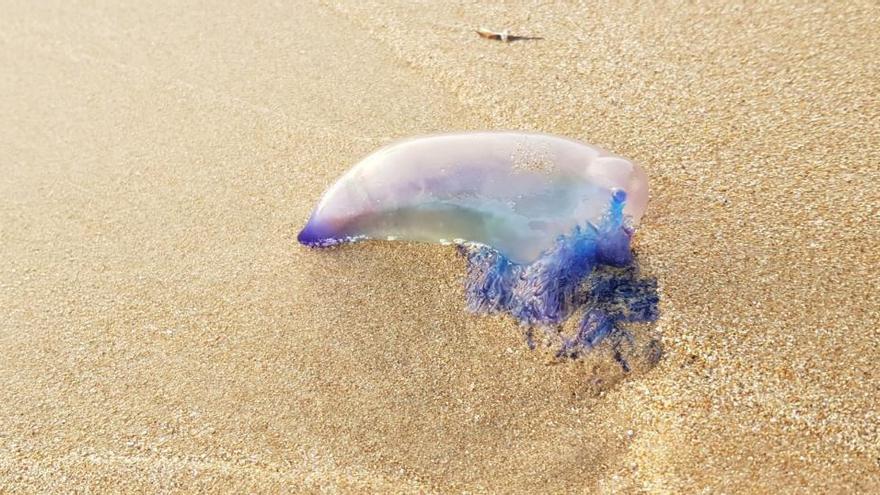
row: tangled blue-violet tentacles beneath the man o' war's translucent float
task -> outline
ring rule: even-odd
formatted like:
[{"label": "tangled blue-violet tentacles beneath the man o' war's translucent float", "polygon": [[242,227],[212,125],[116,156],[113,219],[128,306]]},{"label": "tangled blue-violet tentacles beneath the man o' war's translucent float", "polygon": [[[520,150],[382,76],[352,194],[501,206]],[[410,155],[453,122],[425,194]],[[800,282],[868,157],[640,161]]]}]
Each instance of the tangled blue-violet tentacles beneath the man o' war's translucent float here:
[{"label": "tangled blue-violet tentacles beneath the man o' war's translucent float", "polygon": [[583,310],[576,335],[563,338],[557,357],[576,358],[614,336],[615,359],[628,371],[619,343],[632,338],[621,324],[656,320],[659,297],[656,281],[638,276],[632,232],[623,221],[624,200],[624,194],[615,194],[599,226],[577,227],[560,236],[528,265],[514,263],[489,246],[460,246],[468,265],[468,309],[508,313],[529,327],[529,336],[532,327],[558,326]]}]

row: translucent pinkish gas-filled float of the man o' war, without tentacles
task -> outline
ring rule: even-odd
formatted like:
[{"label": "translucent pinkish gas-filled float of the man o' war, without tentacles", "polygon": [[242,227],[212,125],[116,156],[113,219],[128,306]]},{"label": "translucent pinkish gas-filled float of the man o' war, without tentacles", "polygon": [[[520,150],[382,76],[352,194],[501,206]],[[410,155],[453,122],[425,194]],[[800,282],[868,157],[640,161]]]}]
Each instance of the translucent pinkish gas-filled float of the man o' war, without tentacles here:
[{"label": "translucent pinkish gas-filled float of the man o' war, without tentacles", "polygon": [[641,167],[578,141],[516,132],[408,139],[364,158],[321,198],[299,241],[471,242],[517,263],[607,213],[626,194],[628,227],[641,219]]}]

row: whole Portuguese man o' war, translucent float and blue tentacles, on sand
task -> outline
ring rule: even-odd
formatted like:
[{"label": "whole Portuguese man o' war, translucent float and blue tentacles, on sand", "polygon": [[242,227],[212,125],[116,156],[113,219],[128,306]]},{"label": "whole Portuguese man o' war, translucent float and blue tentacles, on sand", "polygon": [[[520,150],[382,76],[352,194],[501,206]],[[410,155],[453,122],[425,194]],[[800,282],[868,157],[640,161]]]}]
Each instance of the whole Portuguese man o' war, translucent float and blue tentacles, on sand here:
[{"label": "whole Portuguese man o' war, translucent float and blue tentacles, on sand", "polygon": [[576,357],[626,336],[624,322],[657,318],[656,283],[638,276],[630,248],[647,203],[641,167],[597,147],[537,133],[441,134],[364,158],[324,193],[298,240],[454,243],[472,312],[552,329],[583,309],[557,353]]}]

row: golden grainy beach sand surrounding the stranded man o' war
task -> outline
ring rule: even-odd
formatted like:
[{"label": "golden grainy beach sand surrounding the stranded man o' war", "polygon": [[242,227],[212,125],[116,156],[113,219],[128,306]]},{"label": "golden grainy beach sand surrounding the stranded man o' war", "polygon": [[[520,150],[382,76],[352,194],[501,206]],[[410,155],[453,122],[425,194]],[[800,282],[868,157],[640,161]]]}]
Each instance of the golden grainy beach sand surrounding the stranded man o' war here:
[{"label": "golden grainy beach sand surrounding the stranded man o' war", "polygon": [[[876,2],[0,4],[0,492],[880,487]],[[659,364],[529,351],[450,247],[296,244],[482,128],[644,165]]]}]

